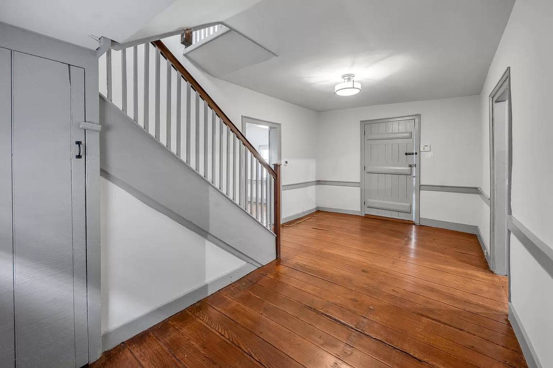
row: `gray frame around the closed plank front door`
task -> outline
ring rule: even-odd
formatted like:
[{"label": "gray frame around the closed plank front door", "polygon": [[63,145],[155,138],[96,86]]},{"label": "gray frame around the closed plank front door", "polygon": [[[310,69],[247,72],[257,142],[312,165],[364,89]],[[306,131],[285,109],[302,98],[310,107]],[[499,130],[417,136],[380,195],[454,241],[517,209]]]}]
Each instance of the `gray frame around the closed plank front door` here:
[{"label": "gray frame around the closed plank front door", "polygon": [[420,114],[414,114],[414,115],[406,115],[406,116],[400,116],[395,118],[384,118],[384,119],[369,119],[369,120],[361,120],[359,122],[359,141],[361,142],[361,156],[360,156],[360,165],[359,165],[359,176],[361,177],[361,193],[359,195],[359,205],[361,207],[360,214],[362,216],[365,215],[365,206],[364,206],[364,198],[365,198],[365,175],[364,175],[364,165],[365,165],[365,134],[364,134],[364,126],[366,124],[374,124],[374,123],[388,123],[388,122],[396,122],[398,120],[408,120],[408,119],[414,119],[415,120],[415,128],[414,128],[414,142],[415,145],[414,152],[416,153],[414,163],[414,175],[415,175],[415,183],[413,185],[413,222],[415,225],[419,225],[420,223]]}]

